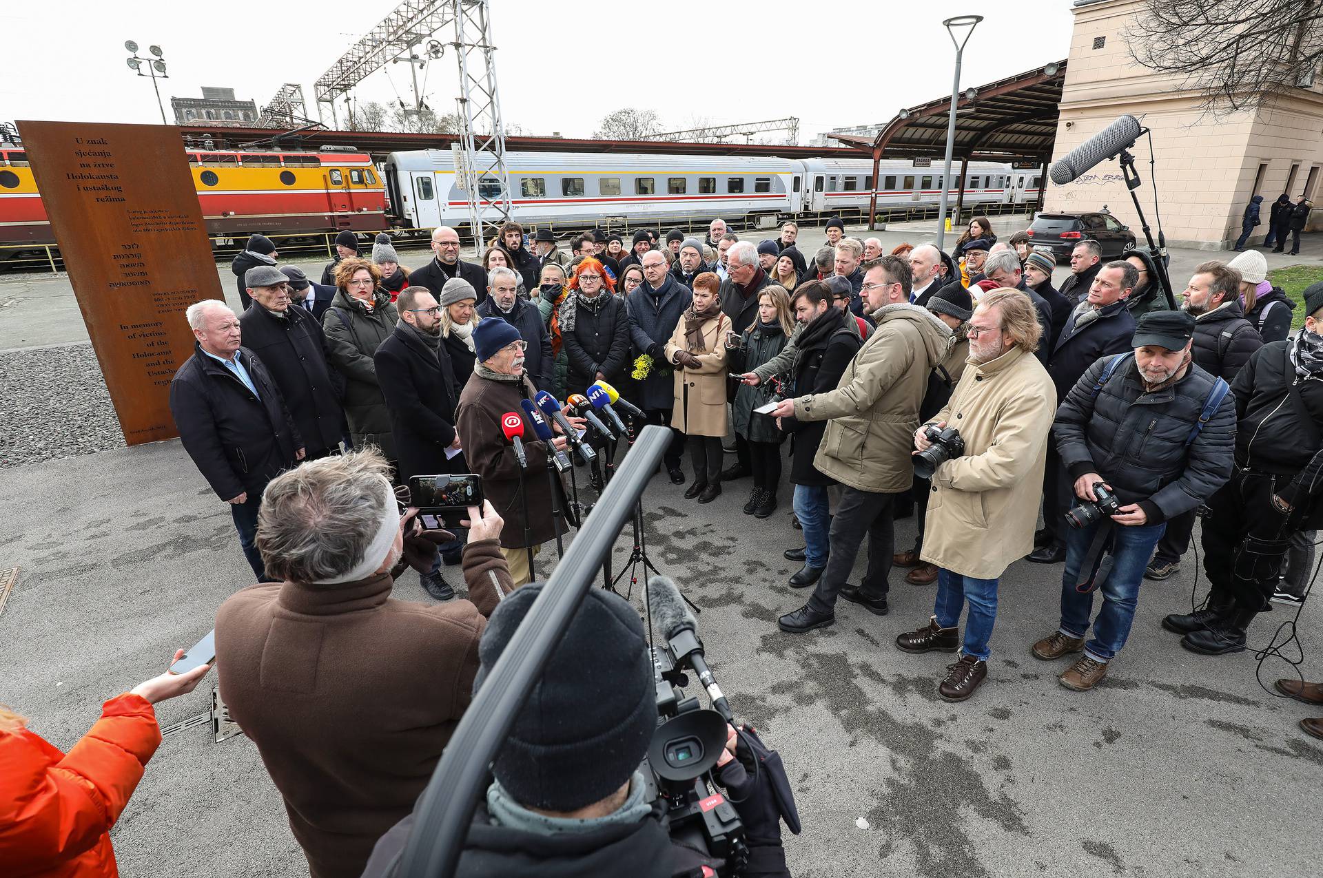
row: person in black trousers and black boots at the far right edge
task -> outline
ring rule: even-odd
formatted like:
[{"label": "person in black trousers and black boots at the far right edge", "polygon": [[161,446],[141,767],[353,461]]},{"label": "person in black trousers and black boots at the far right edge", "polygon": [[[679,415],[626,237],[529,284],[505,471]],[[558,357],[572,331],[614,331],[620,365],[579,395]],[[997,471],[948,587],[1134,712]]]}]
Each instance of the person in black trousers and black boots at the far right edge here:
[{"label": "person in black trousers and black boots at the far right edge", "polygon": [[1163,619],[1180,645],[1221,656],[1245,649],[1245,631],[1267,608],[1291,536],[1323,521],[1323,284],[1304,291],[1304,328],[1266,344],[1232,382],[1236,468],[1208,501],[1208,604]]}]

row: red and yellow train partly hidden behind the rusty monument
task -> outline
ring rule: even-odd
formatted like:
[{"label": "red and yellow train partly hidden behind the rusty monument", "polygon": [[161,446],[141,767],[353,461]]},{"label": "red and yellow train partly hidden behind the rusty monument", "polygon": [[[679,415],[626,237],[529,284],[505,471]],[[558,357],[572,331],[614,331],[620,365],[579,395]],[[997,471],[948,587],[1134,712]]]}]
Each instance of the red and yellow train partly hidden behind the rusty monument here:
[{"label": "red and yellow train partly hidden behind the rusty monument", "polygon": [[[189,149],[188,164],[212,235],[386,226],[385,186],[366,153]],[[20,147],[0,145],[0,243],[54,243]]]}]

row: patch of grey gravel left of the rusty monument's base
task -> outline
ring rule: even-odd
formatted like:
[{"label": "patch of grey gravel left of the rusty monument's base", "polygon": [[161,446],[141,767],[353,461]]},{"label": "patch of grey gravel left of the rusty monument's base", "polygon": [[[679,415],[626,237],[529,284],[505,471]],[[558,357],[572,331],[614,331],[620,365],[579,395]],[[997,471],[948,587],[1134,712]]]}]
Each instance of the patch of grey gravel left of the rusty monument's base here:
[{"label": "patch of grey gravel left of the rusty monument's base", "polygon": [[0,469],[124,447],[91,345],[0,353]]}]

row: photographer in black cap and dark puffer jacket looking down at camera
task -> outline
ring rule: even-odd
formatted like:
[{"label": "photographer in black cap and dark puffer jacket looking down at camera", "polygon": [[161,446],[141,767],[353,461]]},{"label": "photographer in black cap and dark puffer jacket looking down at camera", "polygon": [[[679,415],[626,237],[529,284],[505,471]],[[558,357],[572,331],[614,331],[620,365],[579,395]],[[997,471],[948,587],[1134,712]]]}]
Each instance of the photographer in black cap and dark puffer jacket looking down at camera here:
[{"label": "photographer in black cap and dark puffer jacket looking down at camera", "polygon": [[[1130,635],[1144,565],[1167,522],[1230,475],[1234,401],[1193,362],[1193,337],[1188,313],[1140,315],[1134,353],[1094,362],[1057,410],[1057,451],[1084,502],[1069,513],[1061,625],[1032,652],[1053,661],[1084,649],[1060,676],[1066,689],[1086,692],[1103,678]],[[1102,608],[1085,643],[1095,590]]]}]

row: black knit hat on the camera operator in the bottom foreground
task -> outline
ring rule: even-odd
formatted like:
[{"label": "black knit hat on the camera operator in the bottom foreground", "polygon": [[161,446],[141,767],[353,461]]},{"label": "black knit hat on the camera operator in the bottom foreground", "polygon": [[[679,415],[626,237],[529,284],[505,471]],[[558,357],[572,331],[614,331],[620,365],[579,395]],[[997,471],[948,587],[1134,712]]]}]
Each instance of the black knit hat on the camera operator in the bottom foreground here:
[{"label": "black knit hat on the camera operator in the bottom foreground", "polygon": [[[524,586],[496,606],[478,644],[475,692],[541,591],[542,584]],[[639,614],[624,598],[591,588],[515,718],[492,772],[521,805],[576,811],[634,775],[656,725]]]}]

